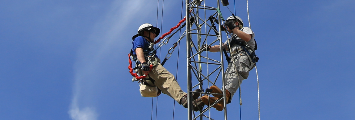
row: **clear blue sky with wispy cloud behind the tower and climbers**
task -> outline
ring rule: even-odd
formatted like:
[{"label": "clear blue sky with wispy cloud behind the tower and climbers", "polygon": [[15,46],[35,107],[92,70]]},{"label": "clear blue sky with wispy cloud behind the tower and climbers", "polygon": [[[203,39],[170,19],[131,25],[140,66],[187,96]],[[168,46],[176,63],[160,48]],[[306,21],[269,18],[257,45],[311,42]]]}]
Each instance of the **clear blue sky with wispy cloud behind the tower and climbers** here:
[{"label": "clear blue sky with wispy cloud behind the tower and climbers", "polygon": [[[162,22],[162,0],[0,0],[0,119],[151,119],[152,98],[141,97],[127,69],[131,37],[141,24],[157,24],[157,7],[158,27],[168,32],[180,21],[181,2],[164,1]],[[236,4],[247,23],[246,1]],[[262,120],[355,119],[354,5],[249,1]],[[172,44],[161,48],[161,58]],[[186,91],[185,42],[180,48],[176,78]],[[177,56],[164,66],[174,75]],[[255,69],[241,88],[242,119],[258,119]],[[161,95],[157,103],[157,120],[172,119],[174,100]],[[228,119],[239,119],[237,99],[227,108]],[[211,114],[223,119],[222,112]],[[187,119],[187,109],[175,102],[174,115]]]}]

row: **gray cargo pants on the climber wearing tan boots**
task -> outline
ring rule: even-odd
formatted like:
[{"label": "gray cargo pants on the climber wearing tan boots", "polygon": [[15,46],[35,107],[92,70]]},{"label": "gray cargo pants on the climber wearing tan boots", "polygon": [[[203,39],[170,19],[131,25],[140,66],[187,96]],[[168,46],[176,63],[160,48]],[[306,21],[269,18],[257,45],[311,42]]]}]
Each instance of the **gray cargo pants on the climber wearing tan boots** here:
[{"label": "gray cargo pants on the climber wearing tan boots", "polygon": [[250,64],[249,58],[246,56],[245,52],[233,56],[232,61],[228,64],[224,77],[226,82],[225,89],[230,92],[231,96],[228,103],[231,102],[234,93],[237,91],[242,81],[248,78],[249,71],[253,69],[250,68]]}]

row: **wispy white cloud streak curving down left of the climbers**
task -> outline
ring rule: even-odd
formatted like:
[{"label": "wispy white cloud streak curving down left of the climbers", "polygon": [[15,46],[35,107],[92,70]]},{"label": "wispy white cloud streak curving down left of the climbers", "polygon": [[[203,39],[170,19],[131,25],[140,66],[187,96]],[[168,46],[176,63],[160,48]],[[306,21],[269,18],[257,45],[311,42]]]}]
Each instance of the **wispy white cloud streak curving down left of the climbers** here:
[{"label": "wispy white cloud streak curving down left of the climbers", "polygon": [[[75,82],[73,85],[73,97],[68,113],[72,120],[97,120],[99,113],[96,111],[95,99],[99,91],[98,83],[105,82],[101,79],[105,75],[104,59],[113,57],[110,53],[117,48],[126,48],[131,44],[131,36],[126,35],[132,20],[134,22],[144,20],[147,14],[140,14],[141,11],[154,10],[149,6],[149,0],[114,1],[107,15],[101,22],[93,27],[89,40],[84,43],[77,52],[77,59],[74,65]],[[139,17],[137,15],[140,15]],[[134,28],[135,29],[135,28]],[[123,37],[122,37],[123,36]],[[127,40],[128,39],[128,40]]]}]

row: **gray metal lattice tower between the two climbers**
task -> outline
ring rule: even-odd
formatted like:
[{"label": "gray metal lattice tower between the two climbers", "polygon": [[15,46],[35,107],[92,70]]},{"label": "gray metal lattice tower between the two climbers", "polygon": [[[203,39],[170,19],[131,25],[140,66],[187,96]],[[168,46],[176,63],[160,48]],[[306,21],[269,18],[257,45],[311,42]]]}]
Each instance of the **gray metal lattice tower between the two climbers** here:
[{"label": "gray metal lattice tower between the two climbers", "polygon": [[[219,83],[221,85],[219,87],[223,90],[223,98],[226,96],[222,47],[220,47],[220,57],[215,57],[215,55],[218,55],[218,52],[211,54],[211,52],[201,50],[202,44],[209,46],[222,46],[223,44],[221,32],[222,15],[220,15],[219,11],[219,0],[216,0],[216,2],[217,4],[213,4],[214,6],[212,7],[207,6],[203,0],[186,0],[187,97],[189,98],[188,103],[190,103],[188,105],[189,120],[202,120],[204,118],[214,120],[213,116],[208,113],[208,110],[212,108],[208,107],[208,105],[205,105],[204,109],[199,112],[193,111],[191,104],[193,90],[197,88],[203,90],[204,88],[209,88],[209,86]],[[211,15],[215,18],[213,22],[208,19]],[[217,29],[213,28],[213,24],[215,24]],[[208,55],[213,55],[215,59],[209,58]],[[224,99],[219,99],[214,104],[217,104],[219,101],[224,101],[224,106],[226,106]],[[226,107],[224,107],[224,118],[227,120]]]}]

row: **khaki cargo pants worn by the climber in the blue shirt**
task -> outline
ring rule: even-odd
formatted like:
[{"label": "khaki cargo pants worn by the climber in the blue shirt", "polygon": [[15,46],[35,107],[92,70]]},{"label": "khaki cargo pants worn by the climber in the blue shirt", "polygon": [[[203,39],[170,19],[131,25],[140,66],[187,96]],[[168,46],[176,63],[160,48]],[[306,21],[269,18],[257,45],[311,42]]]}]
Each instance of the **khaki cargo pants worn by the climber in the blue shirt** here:
[{"label": "khaki cargo pants worn by the climber in the blue shirt", "polygon": [[[176,81],[175,76],[166,70],[157,58],[158,64],[149,72],[147,78],[154,80],[154,85],[157,86],[164,94],[170,96],[180,103],[180,99],[187,95],[181,90],[181,87]],[[143,75],[142,69],[139,69],[139,74]]]}]

